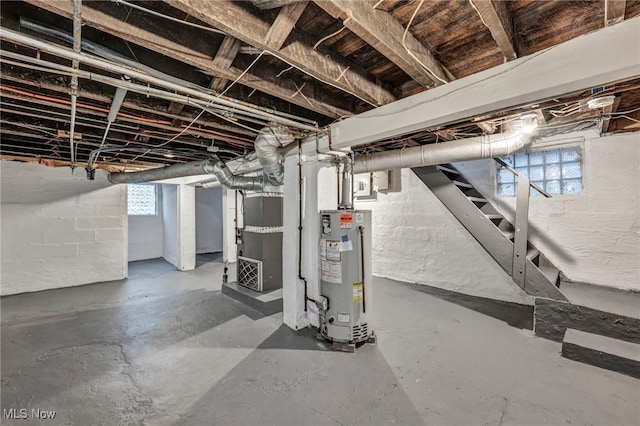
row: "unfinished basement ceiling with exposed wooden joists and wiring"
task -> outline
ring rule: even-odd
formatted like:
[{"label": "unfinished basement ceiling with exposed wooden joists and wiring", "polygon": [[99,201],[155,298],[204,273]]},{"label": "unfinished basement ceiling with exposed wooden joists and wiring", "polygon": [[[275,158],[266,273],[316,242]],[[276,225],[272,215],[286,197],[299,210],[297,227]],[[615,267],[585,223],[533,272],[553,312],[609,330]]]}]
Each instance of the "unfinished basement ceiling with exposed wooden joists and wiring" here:
[{"label": "unfinished basement ceiling with exposed wooden joists and wiring", "polygon": [[[3,2],[2,28],[71,51],[73,9],[72,0]],[[150,68],[211,98],[223,94],[219,99],[238,108],[203,109],[203,100],[158,97],[152,89],[171,90],[133,77],[131,83],[149,93],[127,92],[103,143],[116,89],[97,77],[121,80],[122,73],[81,62],[81,72],[97,77],[78,81],[75,161],[84,166],[101,144],[108,150],[99,153],[97,165],[113,170],[206,158],[211,146],[223,159],[238,158],[253,151],[270,117],[299,122],[298,134],[308,134],[638,14],[640,1],[615,0],[85,1],[85,44],[107,51],[111,62],[138,63],[142,74]],[[34,30],[47,26],[48,34]],[[67,42],[51,30],[65,33]],[[1,47],[0,158],[69,164],[71,61],[4,35]],[[83,53],[91,54],[85,47]],[[640,80],[612,82],[601,90],[469,117],[358,150],[492,133],[526,111],[554,131],[596,122],[603,132],[637,130]],[[614,103],[585,108],[587,100],[602,95],[614,95]],[[240,105],[255,106],[256,114]]]}]

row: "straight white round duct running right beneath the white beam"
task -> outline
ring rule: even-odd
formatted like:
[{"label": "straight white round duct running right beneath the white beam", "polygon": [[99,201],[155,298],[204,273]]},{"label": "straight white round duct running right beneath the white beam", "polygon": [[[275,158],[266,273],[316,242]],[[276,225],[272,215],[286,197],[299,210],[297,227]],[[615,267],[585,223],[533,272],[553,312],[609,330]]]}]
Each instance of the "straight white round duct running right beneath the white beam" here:
[{"label": "straight white round duct running right beneath the white beam", "polygon": [[521,149],[529,137],[524,134],[496,134],[451,142],[422,145],[393,151],[365,154],[355,160],[354,173],[408,167],[433,166],[456,161],[502,157]]}]

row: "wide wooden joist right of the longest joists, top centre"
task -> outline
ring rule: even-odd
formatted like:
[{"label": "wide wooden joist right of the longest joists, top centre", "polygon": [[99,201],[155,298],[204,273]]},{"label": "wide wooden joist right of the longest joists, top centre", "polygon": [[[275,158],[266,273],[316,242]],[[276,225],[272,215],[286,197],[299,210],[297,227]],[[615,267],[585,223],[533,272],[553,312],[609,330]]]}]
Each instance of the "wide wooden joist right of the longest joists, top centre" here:
[{"label": "wide wooden joist right of the longest joists, top centre", "polygon": [[[342,19],[345,27],[421,85],[425,87],[441,85],[453,79],[453,76],[410,32],[407,33],[403,45],[404,28],[389,13],[379,9],[374,10],[375,1],[315,0],[315,3],[334,18]],[[415,57],[412,57],[412,54]]]}]

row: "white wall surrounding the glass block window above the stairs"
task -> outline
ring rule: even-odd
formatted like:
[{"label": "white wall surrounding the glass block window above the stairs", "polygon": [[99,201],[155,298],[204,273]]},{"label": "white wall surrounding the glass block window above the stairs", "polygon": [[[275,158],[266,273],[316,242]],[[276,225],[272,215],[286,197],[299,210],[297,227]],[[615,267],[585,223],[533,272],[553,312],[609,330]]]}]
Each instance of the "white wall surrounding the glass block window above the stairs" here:
[{"label": "white wall surrounding the glass block window above the stairs", "polygon": [[[640,291],[640,133],[585,132],[558,137],[556,143],[572,140],[584,140],[579,144],[585,192],[531,197],[531,240],[569,281]],[[552,147],[549,143],[545,146]],[[513,218],[515,198],[495,194],[493,161],[457,166]]]}]

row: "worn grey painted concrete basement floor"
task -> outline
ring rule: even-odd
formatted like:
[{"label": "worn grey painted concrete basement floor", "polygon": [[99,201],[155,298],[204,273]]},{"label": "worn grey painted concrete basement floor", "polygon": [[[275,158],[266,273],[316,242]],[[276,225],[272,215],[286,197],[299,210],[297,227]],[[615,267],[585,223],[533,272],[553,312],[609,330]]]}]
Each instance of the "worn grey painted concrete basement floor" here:
[{"label": "worn grey painted concrete basement floor", "polygon": [[215,257],[129,273],[1,300],[3,409],[55,410],[52,425],[640,421],[640,381],[401,283],[375,280],[378,345],[345,354],[222,295]]}]

